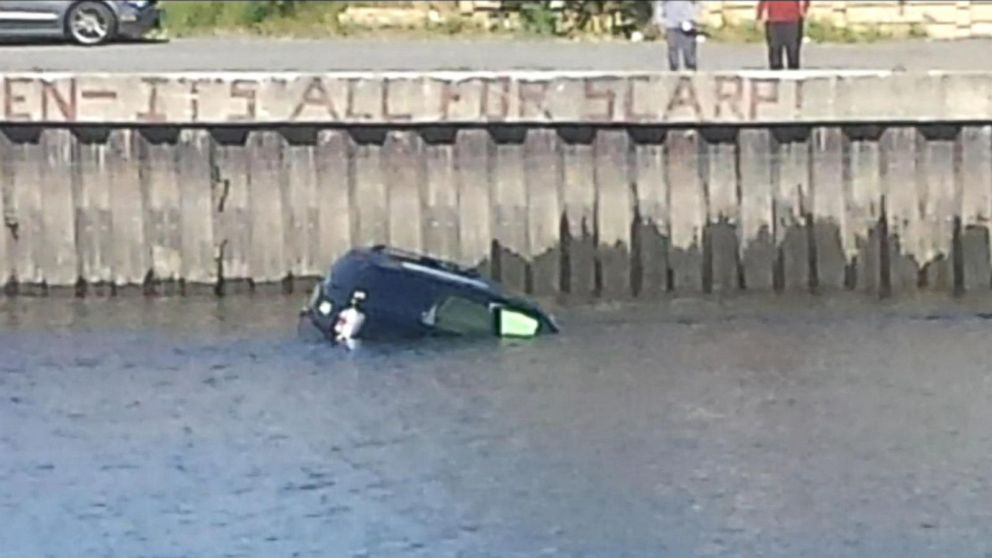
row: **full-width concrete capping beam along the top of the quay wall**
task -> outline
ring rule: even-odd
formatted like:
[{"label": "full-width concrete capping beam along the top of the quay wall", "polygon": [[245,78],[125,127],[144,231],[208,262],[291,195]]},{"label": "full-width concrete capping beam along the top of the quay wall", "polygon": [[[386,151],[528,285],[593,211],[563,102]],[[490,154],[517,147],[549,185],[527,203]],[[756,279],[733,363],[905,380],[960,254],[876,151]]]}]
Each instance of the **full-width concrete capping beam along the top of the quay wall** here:
[{"label": "full-width concrete capping beam along the top of the quay wall", "polygon": [[0,75],[0,123],[850,125],[990,114],[990,72]]}]

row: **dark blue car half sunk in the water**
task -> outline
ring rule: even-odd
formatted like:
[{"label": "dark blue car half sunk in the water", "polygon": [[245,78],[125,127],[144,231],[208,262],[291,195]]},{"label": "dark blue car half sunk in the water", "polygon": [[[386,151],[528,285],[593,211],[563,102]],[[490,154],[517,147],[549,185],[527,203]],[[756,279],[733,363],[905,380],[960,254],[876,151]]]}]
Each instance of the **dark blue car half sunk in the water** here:
[{"label": "dark blue car half sunk in the water", "polygon": [[558,332],[535,303],[478,272],[386,246],[351,250],[315,287],[301,325],[326,339],[528,338]]}]

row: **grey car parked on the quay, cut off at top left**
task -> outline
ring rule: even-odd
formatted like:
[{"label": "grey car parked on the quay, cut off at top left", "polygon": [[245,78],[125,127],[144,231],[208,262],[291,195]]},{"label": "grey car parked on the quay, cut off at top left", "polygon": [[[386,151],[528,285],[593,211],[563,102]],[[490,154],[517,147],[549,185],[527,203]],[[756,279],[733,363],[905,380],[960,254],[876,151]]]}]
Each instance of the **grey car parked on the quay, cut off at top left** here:
[{"label": "grey car parked on the quay, cut off at top left", "polygon": [[158,0],[0,0],[0,38],[64,38],[84,46],[158,27]]}]

